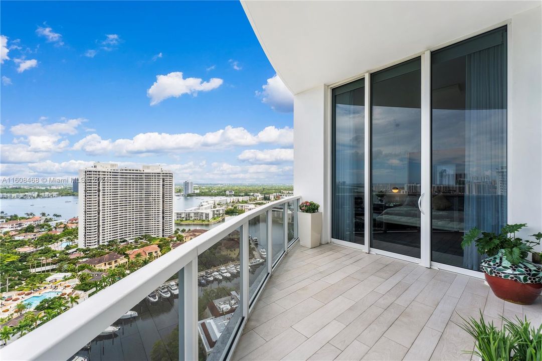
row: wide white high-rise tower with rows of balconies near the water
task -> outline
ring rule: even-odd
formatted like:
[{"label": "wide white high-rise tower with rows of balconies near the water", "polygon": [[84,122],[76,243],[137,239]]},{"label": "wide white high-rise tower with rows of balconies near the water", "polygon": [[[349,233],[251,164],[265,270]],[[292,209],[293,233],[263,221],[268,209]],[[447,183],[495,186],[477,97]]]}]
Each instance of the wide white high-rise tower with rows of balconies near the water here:
[{"label": "wide white high-rise tower with rows of balconies near the water", "polygon": [[94,163],[79,170],[79,247],[173,235],[173,172]]}]

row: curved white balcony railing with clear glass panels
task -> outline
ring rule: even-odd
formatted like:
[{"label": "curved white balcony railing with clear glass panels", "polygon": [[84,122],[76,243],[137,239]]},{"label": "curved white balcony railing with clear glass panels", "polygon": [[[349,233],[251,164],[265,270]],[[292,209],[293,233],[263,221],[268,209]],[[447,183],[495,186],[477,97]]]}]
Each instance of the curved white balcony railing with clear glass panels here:
[{"label": "curved white balcony railing with clear glass panels", "polygon": [[0,351],[6,360],[222,360],[297,237],[299,196],[234,217]]}]

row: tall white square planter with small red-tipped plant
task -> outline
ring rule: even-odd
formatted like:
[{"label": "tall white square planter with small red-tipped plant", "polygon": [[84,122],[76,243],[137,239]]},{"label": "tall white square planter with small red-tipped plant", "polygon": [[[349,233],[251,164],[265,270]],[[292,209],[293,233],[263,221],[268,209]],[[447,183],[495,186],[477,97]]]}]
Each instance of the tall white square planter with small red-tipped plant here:
[{"label": "tall white square planter with small red-tipped plant", "polygon": [[320,205],[315,202],[302,202],[299,205],[299,244],[313,248],[320,245],[322,234],[322,213],[318,210]]}]

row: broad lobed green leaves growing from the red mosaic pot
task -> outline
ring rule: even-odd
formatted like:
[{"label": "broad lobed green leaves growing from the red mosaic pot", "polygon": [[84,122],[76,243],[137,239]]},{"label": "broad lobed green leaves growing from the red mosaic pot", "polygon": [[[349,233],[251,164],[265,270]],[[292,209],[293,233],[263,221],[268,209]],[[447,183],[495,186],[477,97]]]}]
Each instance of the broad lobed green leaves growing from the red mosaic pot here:
[{"label": "broad lobed green leaves growing from the red mosaic pot", "polygon": [[464,249],[474,242],[478,253],[488,256],[494,256],[502,249],[506,259],[513,265],[518,265],[521,260],[526,259],[530,252],[533,252],[533,246],[540,244],[542,239],[540,232],[532,235],[537,241],[522,240],[520,237],[516,237],[515,233],[526,225],[527,223],[507,224],[502,227],[499,234],[482,232],[475,227],[463,236],[461,247]]}]

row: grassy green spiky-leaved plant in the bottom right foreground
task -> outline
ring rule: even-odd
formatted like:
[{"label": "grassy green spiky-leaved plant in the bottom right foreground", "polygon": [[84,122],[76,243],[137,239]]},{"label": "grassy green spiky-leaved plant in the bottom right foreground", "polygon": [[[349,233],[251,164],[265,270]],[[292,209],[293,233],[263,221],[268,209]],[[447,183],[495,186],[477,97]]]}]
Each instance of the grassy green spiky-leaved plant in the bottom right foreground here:
[{"label": "grassy green spiky-leaved plant in the bottom right foreground", "polygon": [[503,328],[500,330],[496,328],[493,321],[491,324],[486,323],[482,311],[480,311],[480,320],[473,317],[469,317],[468,320],[463,317],[461,319],[463,324],[457,325],[470,334],[476,342],[474,351],[467,350],[463,351],[464,353],[474,354],[484,361],[515,360],[512,357],[512,351],[516,338],[512,334],[507,334]]}]

